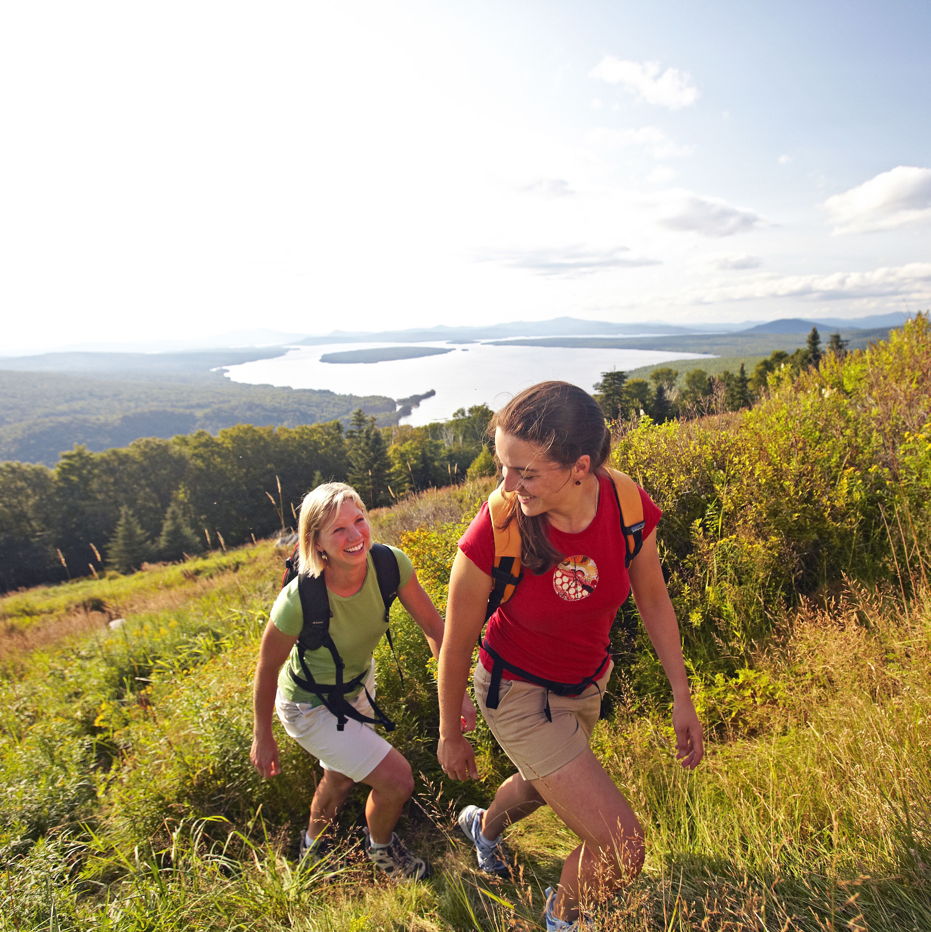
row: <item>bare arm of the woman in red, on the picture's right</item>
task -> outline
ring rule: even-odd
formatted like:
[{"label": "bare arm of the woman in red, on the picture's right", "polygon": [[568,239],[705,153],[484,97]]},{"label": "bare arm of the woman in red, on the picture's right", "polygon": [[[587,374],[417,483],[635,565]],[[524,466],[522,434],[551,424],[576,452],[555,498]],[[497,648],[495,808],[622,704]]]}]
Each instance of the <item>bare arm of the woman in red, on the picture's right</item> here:
[{"label": "bare arm of the woman in red, on the picture's right", "polygon": [[694,769],[705,753],[702,725],[691,703],[676,610],[666,590],[655,530],[643,541],[640,553],[630,565],[630,584],[643,626],[672,686],[677,757],[683,767]]}]

